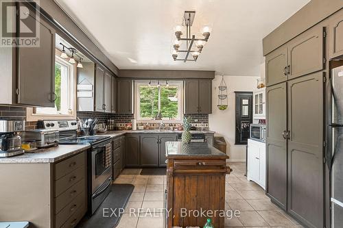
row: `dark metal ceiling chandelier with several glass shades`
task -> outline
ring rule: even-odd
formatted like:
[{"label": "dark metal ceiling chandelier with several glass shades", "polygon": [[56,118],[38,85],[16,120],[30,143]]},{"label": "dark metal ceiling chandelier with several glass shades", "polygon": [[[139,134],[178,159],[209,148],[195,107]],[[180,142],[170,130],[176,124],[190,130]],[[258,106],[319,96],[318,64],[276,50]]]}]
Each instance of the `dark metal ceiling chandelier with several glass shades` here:
[{"label": "dark metal ceiling chandelier with several glass shades", "polygon": [[[202,48],[204,47],[207,40],[209,40],[211,29],[208,26],[205,26],[202,29],[202,36],[203,38],[196,38],[195,35],[191,35],[191,27],[193,25],[194,16],[196,16],[195,11],[185,11],[185,14],[183,16],[183,22],[182,26],[177,25],[174,29],[176,40],[174,42],[174,50],[172,53],[174,61],[196,61],[198,60],[198,57],[202,51]],[[182,38],[183,35],[182,31],[183,28],[186,28],[186,37]],[[180,50],[180,45],[182,41],[186,41],[186,49]],[[193,45],[195,47],[193,47]],[[178,58],[179,53],[185,53],[185,58]],[[193,59],[189,59],[189,54],[193,56]]]}]

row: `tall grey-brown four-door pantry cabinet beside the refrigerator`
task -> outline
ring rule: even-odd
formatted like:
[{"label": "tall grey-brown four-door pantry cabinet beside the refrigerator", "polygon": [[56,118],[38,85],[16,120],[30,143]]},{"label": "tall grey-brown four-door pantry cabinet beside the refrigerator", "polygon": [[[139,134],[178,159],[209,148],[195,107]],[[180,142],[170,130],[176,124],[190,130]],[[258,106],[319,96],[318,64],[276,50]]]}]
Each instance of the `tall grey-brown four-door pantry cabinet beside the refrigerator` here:
[{"label": "tall grey-brown four-door pantry cabinet beside the refrigerator", "polygon": [[308,227],[324,226],[324,27],[266,55],[268,197]]}]

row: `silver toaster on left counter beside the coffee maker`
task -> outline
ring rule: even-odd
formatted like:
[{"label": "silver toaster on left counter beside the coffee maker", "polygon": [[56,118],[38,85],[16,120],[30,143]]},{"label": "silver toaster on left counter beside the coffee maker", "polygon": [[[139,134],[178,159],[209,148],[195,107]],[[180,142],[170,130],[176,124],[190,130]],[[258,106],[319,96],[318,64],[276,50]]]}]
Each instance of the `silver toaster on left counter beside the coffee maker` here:
[{"label": "silver toaster on left counter beside the coffee maker", "polygon": [[23,142],[34,141],[37,148],[54,147],[60,141],[60,132],[54,129],[34,129],[24,131]]}]

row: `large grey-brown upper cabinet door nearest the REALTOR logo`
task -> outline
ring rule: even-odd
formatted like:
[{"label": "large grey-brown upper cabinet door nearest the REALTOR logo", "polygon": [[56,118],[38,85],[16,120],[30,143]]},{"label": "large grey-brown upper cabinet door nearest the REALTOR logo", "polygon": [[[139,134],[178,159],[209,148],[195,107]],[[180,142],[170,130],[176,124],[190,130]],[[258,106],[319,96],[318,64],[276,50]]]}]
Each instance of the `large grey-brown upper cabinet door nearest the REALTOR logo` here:
[{"label": "large grey-brown upper cabinet door nearest the REALTOR logo", "polygon": [[[20,4],[21,5],[21,4]],[[29,8],[25,23],[36,23]],[[17,19],[19,20],[19,18]],[[55,30],[40,17],[39,47],[17,47],[19,104],[55,107]]]}]

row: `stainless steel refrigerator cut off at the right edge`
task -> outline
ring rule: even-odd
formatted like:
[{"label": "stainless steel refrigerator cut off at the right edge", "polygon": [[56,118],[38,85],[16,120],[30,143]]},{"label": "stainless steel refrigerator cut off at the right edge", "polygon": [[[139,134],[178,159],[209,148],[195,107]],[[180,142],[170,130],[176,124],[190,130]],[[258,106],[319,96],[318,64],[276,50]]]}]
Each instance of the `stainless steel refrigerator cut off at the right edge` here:
[{"label": "stainless steel refrigerator cut off at the right edge", "polygon": [[327,164],[331,170],[331,226],[343,227],[343,66],[333,68]]}]

